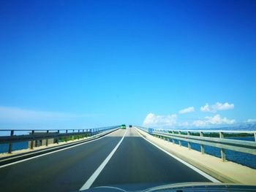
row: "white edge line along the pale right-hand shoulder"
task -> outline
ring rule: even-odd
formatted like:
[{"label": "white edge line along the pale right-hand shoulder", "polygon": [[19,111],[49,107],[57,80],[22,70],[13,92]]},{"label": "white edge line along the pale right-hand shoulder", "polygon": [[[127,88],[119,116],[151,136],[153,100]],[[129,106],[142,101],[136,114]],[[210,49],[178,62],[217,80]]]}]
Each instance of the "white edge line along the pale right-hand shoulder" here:
[{"label": "white edge line along the pale right-hand shoulder", "polygon": [[147,142],[150,142],[152,145],[154,145],[155,147],[159,148],[159,150],[162,150],[163,152],[167,153],[167,155],[170,155],[171,157],[175,158],[176,160],[180,161],[182,164],[188,166],[190,169],[193,169],[195,172],[201,174],[203,177],[206,177],[208,180],[211,180],[211,182],[213,183],[221,183],[219,180],[215,179],[214,177],[211,177],[211,175],[206,174],[205,172],[202,172],[200,169],[197,169],[195,166],[192,166],[191,164],[188,164],[186,161],[183,161],[181,158],[176,157],[176,155],[173,155],[169,152],[167,152],[166,150],[162,149],[161,147],[157,146],[156,144],[154,144],[154,142],[149,141],[148,139],[146,139],[145,137],[143,137],[140,132],[137,130],[137,128],[135,128],[135,130],[137,131],[137,133],[140,135],[140,137],[142,137],[143,139],[145,139]]}]

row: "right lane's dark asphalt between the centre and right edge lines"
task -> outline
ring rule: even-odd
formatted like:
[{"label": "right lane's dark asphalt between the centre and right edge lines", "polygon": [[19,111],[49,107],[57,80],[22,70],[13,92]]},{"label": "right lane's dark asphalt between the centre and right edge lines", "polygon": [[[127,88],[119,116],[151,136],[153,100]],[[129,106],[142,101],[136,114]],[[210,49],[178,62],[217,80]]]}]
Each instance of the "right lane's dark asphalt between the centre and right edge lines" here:
[{"label": "right lane's dark asphalt between the centre and right edge lines", "polygon": [[107,185],[137,190],[144,186],[198,181],[209,182],[206,177],[140,137],[135,128],[128,128],[124,141],[92,187]]}]

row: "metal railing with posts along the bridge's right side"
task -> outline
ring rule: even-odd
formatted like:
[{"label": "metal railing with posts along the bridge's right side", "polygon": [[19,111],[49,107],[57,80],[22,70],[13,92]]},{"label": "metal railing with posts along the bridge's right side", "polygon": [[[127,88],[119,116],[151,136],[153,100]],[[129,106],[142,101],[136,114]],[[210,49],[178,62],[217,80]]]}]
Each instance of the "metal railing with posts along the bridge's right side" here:
[{"label": "metal railing with posts along the bridge's right side", "polygon": [[[256,155],[256,131],[222,131],[222,130],[171,130],[154,129],[136,126],[153,136],[168,139],[181,146],[181,141],[187,142],[187,147],[191,149],[191,143],[200,145],[200,152],[205,153],[205,145],[220,148],[222,161],[226,161],[225,150],[233,150],[242,153]],[[255,142],[238,139],[226,139],[232,136],[254,136]]]}]

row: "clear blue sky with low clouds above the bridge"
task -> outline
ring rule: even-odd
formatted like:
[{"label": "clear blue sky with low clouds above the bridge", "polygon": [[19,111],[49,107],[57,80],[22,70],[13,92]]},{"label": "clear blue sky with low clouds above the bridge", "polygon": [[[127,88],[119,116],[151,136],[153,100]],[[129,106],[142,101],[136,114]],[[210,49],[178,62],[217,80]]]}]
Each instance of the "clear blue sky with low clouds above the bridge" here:
[{"label": "clear blue sky with low clouds above the bridge", "polygon": [[255,9],[255,1],[1,1],[0,128],[252,122]]}]

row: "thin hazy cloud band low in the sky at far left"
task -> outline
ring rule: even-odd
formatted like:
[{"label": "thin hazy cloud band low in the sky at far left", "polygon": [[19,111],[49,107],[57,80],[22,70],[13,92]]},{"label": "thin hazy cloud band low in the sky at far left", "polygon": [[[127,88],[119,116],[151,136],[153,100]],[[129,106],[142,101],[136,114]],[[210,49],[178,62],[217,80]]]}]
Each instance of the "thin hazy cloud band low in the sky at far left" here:
[{"label": "thin hazy cloud band low in the sky at far left", "polygon": [[50,120],[72,120],[89,117],[90,115],[73,114],[66,112],[45,112],[37,110],[24,110],[18,107],[1,107],[0,122],[37,122]]}]

